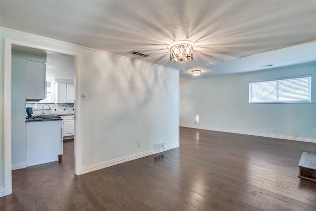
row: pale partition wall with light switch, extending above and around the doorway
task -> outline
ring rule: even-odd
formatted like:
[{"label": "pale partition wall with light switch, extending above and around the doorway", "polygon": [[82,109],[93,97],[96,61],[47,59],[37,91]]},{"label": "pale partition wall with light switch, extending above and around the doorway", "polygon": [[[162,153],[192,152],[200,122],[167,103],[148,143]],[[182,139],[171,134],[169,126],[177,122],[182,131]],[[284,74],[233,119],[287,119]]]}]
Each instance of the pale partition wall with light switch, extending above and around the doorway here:
[{"label": "pale partition wall with light switch, extending above and around the doorway", "polygon": [[[3,157],[4,38],[79,54],[75,114],[76,128],[80,128],[76,131],[80,173],[149,155],[156,142],[165,142],[167,149],[179,146],[178,71],[1,29],[0,191],[7,181]],[[82,92],[88,93],[87,100],[82,99]],[[141,147],[137,147],[138,140]]]}]

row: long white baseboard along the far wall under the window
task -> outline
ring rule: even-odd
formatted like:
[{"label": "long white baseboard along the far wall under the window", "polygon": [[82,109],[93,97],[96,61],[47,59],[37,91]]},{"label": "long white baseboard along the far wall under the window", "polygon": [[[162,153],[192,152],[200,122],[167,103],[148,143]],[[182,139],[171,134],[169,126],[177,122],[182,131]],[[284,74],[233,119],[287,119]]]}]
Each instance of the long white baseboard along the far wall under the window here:
[{"label": "long white baseboard along the far wall under the window", "polygon": [[219,128],[210,128],[210,127],[198,127],[198,126],[190,126],[190,125],[180,125],[180,127],[190,127],[190,128],[196,128],[196,129],[230,132],[230,133],[237,133],[237,134],[243,134],[243,135],[254,135],[254,136],[267,137],[267,138],[278,138],[278,139],[285,139],[285,140],[291,140],[291,141],[304,141],[304,142],[316,143],[316,139],[313,139],[313,138],[301,138],[301,137],[294,137],[294,136],[274,135],[274,134],[268,134],[268,133],[248,132],[248,131],[241,131],[241,130],[219,129]]}]

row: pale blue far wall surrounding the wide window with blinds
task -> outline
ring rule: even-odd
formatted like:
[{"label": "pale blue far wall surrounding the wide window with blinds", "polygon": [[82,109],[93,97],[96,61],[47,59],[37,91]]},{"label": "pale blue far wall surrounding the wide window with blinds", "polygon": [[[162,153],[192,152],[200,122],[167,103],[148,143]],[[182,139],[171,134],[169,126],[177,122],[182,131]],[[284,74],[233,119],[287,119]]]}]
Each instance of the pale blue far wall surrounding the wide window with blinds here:
[{"label": "pale blue far wall surrounding the wide window with blinds", "polygon": [[316,63],[180,83],[180,126],[316,142],[315,103],[247,104],[249,81],[308,74],[315,102]]}]

